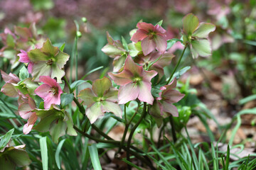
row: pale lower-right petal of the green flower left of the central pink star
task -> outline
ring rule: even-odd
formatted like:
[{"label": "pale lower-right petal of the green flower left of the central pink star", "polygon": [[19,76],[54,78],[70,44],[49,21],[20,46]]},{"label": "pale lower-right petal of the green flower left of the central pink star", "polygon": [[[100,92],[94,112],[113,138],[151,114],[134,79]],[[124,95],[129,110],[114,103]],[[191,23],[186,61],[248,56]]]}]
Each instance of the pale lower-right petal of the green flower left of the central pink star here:
[{"label": "pale lower-right petal of the green flower left of the central pink star", "polygon": [[118,104],[110,101],[102,101],[101,104],[101,109],[103,113],[111,112],[114,113],[114,115],[116,115],[117,117],[122,118],[122,110]]}]

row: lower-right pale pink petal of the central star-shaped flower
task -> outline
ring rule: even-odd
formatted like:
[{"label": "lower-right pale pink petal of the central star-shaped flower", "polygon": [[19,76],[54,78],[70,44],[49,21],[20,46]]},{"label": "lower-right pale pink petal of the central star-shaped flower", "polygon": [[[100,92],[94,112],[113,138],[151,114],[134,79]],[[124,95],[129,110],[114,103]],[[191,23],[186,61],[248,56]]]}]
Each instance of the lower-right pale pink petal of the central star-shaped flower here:
[{"label": "lower-right pale pink petal of the central star-shaped flower", "polygon": [[139,82],[139,96],[140,101],[144,101],[149,104],[153,104],[154,98],[151,94],[151,83],[146,81]]}]

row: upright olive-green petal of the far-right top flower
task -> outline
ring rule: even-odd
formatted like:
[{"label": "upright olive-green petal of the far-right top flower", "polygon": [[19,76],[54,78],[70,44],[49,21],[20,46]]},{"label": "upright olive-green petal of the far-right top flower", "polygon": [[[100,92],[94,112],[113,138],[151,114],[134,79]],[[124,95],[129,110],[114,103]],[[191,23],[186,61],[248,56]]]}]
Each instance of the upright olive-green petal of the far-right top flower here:
[{"label": "upright olive-green petal of the far-right top flower", "polygon": [[188,13],[186,16],[183,17],[183,32],[186,35],[192,35],[192,33],[198,27],[199,20],[193,13]]}]

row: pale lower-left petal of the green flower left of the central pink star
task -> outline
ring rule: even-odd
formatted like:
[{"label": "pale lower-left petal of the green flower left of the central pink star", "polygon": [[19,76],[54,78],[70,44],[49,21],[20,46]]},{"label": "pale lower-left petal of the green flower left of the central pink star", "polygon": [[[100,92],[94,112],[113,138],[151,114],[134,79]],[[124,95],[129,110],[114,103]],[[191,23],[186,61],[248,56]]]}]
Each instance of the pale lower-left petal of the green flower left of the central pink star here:
[{"label": "pale lower-left petal of the green flower left of the central pink star", "polygon": [[91,124],[95,123],[97,118],[104,115],[104,113],[102,113],[101,103],[96,102],[90,108],[87,108],[86,115],[87,115],[87,118],[90,120]]}]

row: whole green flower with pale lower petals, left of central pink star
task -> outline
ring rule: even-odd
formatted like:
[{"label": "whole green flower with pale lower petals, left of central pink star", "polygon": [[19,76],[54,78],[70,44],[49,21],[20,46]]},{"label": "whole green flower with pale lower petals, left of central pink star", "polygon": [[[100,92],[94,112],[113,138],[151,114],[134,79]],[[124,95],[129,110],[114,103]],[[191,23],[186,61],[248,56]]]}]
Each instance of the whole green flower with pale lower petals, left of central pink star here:
[{"label": "whole green flower with pale lower petals, left of central pink star", "polygon": [[122,110],[117,102],[117,89],[111,88],[110,79],[103,77],[92,83],[92,89],[87,88],[80,91],[78,97],[87,106],[86,115],[90,123],[94,123],[97,118],[106,112],[114,113],[122,117]]}]

